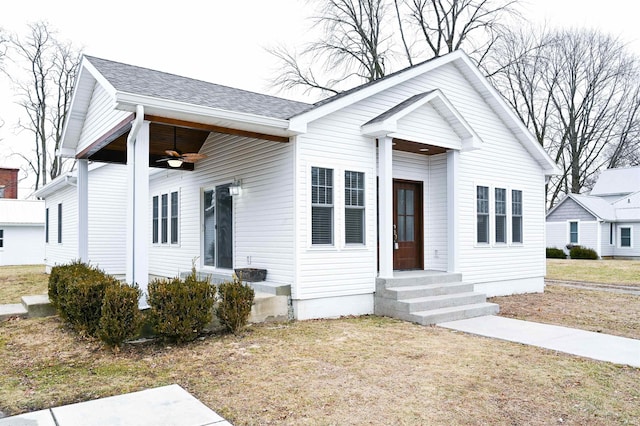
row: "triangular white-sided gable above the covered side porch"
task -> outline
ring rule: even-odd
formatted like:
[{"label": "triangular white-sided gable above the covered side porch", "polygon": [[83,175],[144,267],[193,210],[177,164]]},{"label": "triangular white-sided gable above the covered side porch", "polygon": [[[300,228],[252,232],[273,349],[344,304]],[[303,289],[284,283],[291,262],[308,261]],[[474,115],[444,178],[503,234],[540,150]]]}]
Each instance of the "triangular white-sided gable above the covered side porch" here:
[{"label": "triangular white-sided gable above the covered side porch", "polygon": [[130,112],[113,108],[114,100],[99,84],[94,86],[91,103],[84,120],[84,126],[78,141],[77,152],[81,152],[98,138],[104,136],[115,125],[131,115]]}]

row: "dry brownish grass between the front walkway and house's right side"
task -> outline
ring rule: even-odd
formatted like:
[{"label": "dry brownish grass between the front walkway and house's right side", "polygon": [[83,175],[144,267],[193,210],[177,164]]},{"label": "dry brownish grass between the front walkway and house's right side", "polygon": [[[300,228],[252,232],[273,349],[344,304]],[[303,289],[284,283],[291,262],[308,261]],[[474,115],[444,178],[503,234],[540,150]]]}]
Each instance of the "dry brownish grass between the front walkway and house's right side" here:
[{"label": "dry brownish grass between the front walkway and house's right side", "polygon": [[544,293],[490,301],[501,316],[640,339],[640,296],[547,285]]}]

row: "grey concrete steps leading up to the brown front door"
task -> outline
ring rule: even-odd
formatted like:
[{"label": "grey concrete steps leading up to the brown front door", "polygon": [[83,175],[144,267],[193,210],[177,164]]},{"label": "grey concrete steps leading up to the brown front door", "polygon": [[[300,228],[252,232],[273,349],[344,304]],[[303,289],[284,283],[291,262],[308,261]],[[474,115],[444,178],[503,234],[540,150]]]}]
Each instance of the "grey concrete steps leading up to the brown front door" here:
[{"label": "grey concrete steps leading up to the brown front door", "polygon": [[500,307],[461,274],[419,271],[376,280],[375,313],[422,325],[493,315]]}]

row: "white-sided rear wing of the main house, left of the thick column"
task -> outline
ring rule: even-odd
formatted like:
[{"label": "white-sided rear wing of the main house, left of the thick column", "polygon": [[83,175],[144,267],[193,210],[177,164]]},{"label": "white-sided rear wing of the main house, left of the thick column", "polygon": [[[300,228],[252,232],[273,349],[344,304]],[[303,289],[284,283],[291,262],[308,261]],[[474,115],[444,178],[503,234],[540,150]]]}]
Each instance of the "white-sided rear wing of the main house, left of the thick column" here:
[{"label": "white-sided rear wing of the main house, left of the thick column", "polygon": [[[105,272],[124,276],[126,271],[127,170],[121,164],[96,163],[89,167],[89,226],[87,261]],[[45,265],[51,267],[78,259],[77,172],[58,176],[35,192],[46,204],[43,234]]]}]

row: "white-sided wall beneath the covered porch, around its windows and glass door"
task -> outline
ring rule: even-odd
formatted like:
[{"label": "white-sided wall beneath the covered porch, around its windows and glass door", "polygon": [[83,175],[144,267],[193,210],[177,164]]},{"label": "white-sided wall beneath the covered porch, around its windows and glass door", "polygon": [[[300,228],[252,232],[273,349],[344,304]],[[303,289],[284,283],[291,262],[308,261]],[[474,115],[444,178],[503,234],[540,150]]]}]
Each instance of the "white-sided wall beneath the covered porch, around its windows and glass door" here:
[{"label": "white-sided wall beneath the covered porch, around its windows and glass door", "polygon": [[[242,180],[233,197],[234,267],[266,268],[267,280],[293,282],[293,145],[212,133],[201,152],[207,158],[194,171],[161,170],[152,175],[151,200],[179,192],[179,244],[152,244],[149,217],[149,271],[176,276],[192,261],[203,271],[230,276],[229,269],[205,267],[202,260],[202,193]],[[251,263],[249,264],[249,258]]]}]

